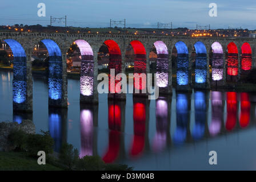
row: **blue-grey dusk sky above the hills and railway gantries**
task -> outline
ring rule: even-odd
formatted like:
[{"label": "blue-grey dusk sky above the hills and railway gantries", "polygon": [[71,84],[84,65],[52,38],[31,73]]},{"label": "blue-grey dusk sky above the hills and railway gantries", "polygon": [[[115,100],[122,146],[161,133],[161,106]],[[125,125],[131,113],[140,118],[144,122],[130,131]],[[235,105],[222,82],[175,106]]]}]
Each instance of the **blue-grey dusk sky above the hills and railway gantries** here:
[{"label": "blue-grey dusk sky above the hills and railway gantries", "polygon": [[[38,3],[45,3],[46,17],[38,17]],[[218,6],[217,17],[209,16],[210,3]],[[1,0],[0,24],[47,26],[50,15],[67,15],[67,26],[76,27],[109,27],[110,18],[126,18],[127,27],[157,28],[157,22],[173,22],[174,28],[210,24],[256,29],[255,0]]]}]

